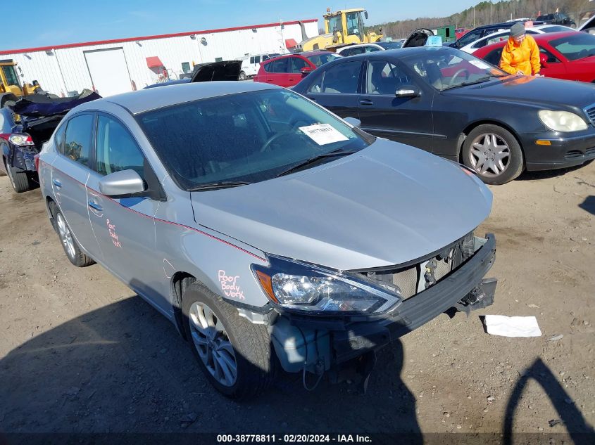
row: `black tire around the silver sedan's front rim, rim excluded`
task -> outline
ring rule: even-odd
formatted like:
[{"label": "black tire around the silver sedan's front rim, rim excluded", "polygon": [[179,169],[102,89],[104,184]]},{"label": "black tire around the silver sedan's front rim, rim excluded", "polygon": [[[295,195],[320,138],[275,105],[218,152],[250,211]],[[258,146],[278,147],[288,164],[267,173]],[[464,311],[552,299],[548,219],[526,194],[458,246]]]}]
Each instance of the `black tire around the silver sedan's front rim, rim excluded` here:
[{"label": "black tire around the silver sedan's front rim, rim excluded", "polygon": [[[223,323],[237,364],[237,378],[233,385],[223,385],[216,380],[199,355],[192,337],[192,321],[189,316],[194,303],[205,304]],[[256,325],[240,317],[231,304],[199,283],[193,283],[184,290],[182,314],[184,332],[194,357],[207,380],[221,394],[231,399],[247,399],[260,394],[273,383],[279,363],[265,325]]]}]

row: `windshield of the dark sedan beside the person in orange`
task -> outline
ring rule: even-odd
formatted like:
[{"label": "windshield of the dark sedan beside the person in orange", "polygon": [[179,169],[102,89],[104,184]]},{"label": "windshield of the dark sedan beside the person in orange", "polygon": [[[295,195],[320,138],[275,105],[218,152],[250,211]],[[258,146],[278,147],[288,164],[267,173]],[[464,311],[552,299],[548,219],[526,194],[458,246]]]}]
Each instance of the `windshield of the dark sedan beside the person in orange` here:
[{"label": "windshield of the dark sedan beside the person in orange", "polygon": [[428,48],[425,51],[416,51],[411,56],[401,57],[401,60],[427,84],[440,91],[507,75],[499,68],[463,51],[450,48],[435,50]]}]

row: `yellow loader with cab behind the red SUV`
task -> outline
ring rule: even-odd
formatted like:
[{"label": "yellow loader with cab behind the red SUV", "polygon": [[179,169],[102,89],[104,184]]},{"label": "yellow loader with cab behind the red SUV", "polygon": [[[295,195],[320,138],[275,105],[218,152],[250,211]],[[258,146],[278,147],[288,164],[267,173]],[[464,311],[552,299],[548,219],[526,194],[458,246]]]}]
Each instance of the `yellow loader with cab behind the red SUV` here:
[{"label": "yellow loader with cab behind the red SUV", "polygon": [[[294,51],[313,51],[316,49],[332,51],[341,46],[380,41],[382,34],[376,34],[370,30],[363,32],[362,13],[367,19],[368,11],[362,8],[344,9],[334,13],[330,12],[330,8],[327,8],[327,13],[322,15],[325,18],[325,34],[308,39],[303,24],[301,24],[302,41]],[[382,29],[380,32],[382,32]]]}]

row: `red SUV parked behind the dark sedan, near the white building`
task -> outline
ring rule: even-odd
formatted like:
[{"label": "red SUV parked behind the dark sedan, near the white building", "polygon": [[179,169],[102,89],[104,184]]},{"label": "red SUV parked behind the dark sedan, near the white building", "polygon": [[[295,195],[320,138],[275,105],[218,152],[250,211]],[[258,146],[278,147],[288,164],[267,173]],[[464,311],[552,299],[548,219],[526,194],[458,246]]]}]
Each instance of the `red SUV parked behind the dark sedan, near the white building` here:
[{"label": "red SUV parked behind the dark sedan, near the white building", "polygon": [[265,84],[293,86],[298,84],[308,72],[340,57],[329,51],[305,51],[299,54],[288,54],[261,63],[261,69],[253,79],[254,82]]}]

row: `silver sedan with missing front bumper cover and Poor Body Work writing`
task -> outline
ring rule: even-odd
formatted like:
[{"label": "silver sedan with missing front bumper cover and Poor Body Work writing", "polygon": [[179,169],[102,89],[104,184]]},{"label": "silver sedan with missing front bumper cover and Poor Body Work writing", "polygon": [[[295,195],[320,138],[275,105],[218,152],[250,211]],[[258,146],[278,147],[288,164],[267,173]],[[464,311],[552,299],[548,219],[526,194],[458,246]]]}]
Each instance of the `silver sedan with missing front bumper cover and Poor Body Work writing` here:
[{"label": "silver sedan with missing front bumper cover and Poor Body Work writing", "polygon": [[227,396],[278,366],[365,378],[377,348],[494,297],[494,237],[474,235],[491,193],[475,174],[278,86],[81,105],[39,179],[70,262],[98,262],[172,321]]}]

